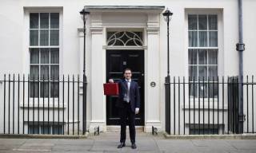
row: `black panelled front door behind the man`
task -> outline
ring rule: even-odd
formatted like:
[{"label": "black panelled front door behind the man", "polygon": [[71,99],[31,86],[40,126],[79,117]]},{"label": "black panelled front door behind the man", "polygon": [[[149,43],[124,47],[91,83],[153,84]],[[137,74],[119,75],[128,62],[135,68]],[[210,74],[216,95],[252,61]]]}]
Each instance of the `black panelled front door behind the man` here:
[{"label": "black panelled front door behind the man", "polygon": [[[107,50],[106,51],[106,82],[110,78],[118,81],[123,77],[123,70],[132,70],[132,79],[138,82],[141,108],[136,115],[135,124],[144,125],[144,50]],[[106,96],[106,124],[119,125],[118,108],[115,103],[118,96]]]}]

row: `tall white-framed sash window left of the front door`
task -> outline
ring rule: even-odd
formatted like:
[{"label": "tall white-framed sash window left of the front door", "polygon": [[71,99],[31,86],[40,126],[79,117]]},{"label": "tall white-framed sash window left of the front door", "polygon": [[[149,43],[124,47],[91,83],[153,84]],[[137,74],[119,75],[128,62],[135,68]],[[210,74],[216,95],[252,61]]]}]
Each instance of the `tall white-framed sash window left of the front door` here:
[{"label": "tall white-framed sash window left of the front door", "polygon": [[57,97],[59,13],[30,13],[29,48],[30,97]]}]

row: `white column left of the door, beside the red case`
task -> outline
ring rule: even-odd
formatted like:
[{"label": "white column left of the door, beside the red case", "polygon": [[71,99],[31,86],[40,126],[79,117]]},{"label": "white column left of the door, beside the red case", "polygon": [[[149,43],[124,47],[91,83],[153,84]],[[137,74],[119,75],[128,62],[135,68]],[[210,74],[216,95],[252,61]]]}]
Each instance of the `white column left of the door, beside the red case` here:
[{"label": "white column left of the door, beside the red case", "polygon": [[95,127],[100,127],[100,131],[106,131],[106,100],[103,96],[103,83],[105,77],[104,51],[102,45],[105,38],[102,28],[102,14],[90,14],[90,34],[91,34],[91,120],[90,132],[94,132]]}]

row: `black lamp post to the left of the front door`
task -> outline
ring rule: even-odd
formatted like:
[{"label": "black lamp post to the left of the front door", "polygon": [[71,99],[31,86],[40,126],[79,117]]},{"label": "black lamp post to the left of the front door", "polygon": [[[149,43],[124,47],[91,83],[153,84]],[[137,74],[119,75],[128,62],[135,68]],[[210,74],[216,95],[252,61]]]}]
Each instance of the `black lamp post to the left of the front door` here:
[{"label": "black lamp post to the left of the front door", "polygon": [[[86,19],[90,12],[85,8],[79,12],[83,20],[83,69],[82,69],[82,135],[86,133]],[[79,131],[78,131],[79,132]]]}]

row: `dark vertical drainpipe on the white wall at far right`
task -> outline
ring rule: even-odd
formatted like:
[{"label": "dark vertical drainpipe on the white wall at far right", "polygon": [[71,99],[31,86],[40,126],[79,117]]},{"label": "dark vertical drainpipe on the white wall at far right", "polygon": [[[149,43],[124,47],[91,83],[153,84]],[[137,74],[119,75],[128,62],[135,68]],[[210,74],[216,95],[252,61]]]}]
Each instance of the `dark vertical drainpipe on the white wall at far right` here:
[{"label": "dark vertical drainpipe on the white wall at far right", "polygon": [[239,116],[239,122],[238,122],[238,133],[243,133],[243,122],[244,122],[244,114],[243,114],[243,88],[242,88],[242,75],[243,75],[243,57],[242,53],[245,50],[245,44],[243,43],[242,38],[242,0],[238,0],[238,33],[239,33],[239,41],[236,44],[236,49],[238,51],[238,57],[239,57],[239,74],[238,74],[238,102],[239,102],[239,108],[238,108],[238,116]]}]

